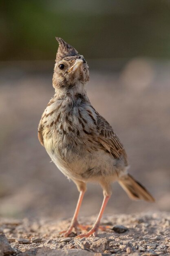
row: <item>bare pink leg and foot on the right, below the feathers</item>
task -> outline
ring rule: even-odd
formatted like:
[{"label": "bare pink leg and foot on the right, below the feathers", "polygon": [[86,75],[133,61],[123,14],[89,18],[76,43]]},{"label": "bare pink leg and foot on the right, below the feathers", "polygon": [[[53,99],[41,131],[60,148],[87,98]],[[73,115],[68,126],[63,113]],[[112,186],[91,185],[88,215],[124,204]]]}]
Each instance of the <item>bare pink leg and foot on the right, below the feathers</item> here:
[{"label": "bare pink leg and foot on the right, below the feathers", "polygon": [[106,205],[108,203],[109,198],[110,198],[110,195],[104,196],[104,200],[103,200],[102,207],[100,209],[99,215],[97,217],[97,220],[96,220],[95,224],[91,228],[91,230],[89,230],[87,233],[76,236],[76,238],[88,237],[88,236],[91,236],[92,234],[95,236],[97,234],[97,230],[99,229],[100,220],[102,218],[102,215],[104,213],[104,209],[106,208]]}]

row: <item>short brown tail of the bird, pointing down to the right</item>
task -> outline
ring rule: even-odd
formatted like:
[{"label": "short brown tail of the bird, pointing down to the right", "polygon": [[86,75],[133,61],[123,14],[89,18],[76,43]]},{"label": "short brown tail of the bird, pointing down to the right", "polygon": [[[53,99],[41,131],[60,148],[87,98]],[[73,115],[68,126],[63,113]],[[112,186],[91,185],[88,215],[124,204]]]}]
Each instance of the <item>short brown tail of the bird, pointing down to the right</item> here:
[{"label": "short brown tail of the bird, pointing down to the right", "polygon": [[132,200],[155,202],[155,199],[146,188],[136,181],[130,174],[121,177],[118,182]]}]

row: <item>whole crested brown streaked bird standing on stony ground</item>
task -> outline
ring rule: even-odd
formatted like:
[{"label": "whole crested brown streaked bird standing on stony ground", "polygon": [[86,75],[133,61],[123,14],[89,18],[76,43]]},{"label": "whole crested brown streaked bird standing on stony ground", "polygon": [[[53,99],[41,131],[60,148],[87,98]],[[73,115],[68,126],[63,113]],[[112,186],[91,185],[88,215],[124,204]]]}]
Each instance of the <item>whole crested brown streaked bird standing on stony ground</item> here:
[{"label": "whole crested brown streaked bird standing on stony ground", "polygon": [[[112,194],[111,184],[118,182],[132,200],[154,202],[146,188],[128,173],[127,154],[110,124],[99,115],[88,99],[88,64],[83,55],[56,37],[59,47],[53,72],[55,94],[44,110],[38,126],[38,139],[57,168],[72,180],[79,199],[71,224],[64,237],[73,229],[86,229],[76,238],[96,236],[106,204]],[[80,225],[78,213],[86,184],[99,183],[103,203],[94,225]],[[102,229],[102,227],[101,227]]]}]

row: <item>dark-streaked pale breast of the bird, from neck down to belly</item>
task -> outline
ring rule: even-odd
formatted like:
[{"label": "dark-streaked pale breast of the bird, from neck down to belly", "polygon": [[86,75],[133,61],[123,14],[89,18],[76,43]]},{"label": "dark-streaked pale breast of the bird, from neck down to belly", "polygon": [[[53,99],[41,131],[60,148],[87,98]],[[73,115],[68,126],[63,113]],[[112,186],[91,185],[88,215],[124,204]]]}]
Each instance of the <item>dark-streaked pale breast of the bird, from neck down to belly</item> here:
[{"label": "dark-streaked pale breast of the bird, from neck down to belly", "polygon": [[[47,153],[63,171],[82,172],[97,150],[96,116],[89,103],[69,101],[44,114],[43,140]],[[63,171],[64,172],[64,171]]]}]

